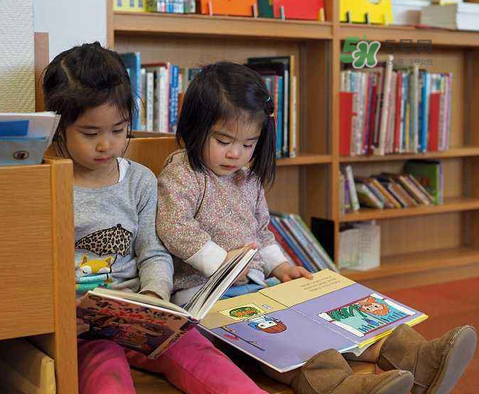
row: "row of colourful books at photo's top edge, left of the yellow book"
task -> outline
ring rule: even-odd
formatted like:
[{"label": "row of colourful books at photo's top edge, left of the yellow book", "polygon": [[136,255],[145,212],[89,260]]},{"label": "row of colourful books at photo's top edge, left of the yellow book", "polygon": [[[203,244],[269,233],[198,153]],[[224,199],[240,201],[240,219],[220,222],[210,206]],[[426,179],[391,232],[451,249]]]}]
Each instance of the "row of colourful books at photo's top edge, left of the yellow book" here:
[{"label": "row of colourful books at photo's top edge, left of the yellow book", "polygon": [[115,0],[113,10],[324,21],[323,0]]}]

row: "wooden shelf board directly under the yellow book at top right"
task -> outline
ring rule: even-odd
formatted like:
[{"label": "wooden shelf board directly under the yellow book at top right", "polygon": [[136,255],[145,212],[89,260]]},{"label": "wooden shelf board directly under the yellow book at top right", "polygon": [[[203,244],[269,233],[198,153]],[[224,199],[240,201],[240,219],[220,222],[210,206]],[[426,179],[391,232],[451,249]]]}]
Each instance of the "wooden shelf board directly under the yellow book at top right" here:
[{"label": "wooden shelf board directly under the yellow book at top right", "polygon": [[478,47],[478,31],[455,31],[441,28],[416,28],[413,26],[361,26],[359,24],[339,24],[339,39],[364,35],[368,40],[384,42],[386,40],[432,40],[433,46]]}]

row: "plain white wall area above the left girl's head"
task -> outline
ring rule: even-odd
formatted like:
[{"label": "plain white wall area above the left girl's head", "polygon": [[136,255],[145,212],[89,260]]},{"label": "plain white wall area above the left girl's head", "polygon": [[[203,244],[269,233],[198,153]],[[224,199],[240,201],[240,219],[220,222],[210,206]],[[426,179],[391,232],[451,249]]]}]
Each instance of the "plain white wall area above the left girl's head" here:
[{"label": "plain white wall area above the left girl's head", "polygon": [[34,31],[48,33],[50,60],[81,43],[105,46],[105,1],[34,0]]}]

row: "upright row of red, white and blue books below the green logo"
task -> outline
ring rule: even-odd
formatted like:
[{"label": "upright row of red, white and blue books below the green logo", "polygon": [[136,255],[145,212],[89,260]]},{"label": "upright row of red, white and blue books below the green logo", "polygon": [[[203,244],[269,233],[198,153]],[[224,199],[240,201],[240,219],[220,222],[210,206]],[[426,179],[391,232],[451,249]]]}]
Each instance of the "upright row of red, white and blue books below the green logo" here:
[{"label": "upright row of red, white and blue books below the green logo", "polygon": [[448,150],[453,73],[431,73],[392,56],[341,71],[340,154]]}]

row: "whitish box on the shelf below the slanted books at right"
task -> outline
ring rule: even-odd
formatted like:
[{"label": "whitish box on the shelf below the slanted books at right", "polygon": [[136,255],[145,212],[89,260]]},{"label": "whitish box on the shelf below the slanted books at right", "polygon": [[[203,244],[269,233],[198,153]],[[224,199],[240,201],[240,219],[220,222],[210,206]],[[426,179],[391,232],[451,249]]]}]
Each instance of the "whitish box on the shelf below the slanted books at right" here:
[{"label": "whitish box on the shelf below the slanted books at right", "polygon": [[381,264],[381,228],[376,221],[347,223],[339,232],[339,269],[366,271]]}]

